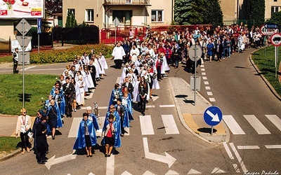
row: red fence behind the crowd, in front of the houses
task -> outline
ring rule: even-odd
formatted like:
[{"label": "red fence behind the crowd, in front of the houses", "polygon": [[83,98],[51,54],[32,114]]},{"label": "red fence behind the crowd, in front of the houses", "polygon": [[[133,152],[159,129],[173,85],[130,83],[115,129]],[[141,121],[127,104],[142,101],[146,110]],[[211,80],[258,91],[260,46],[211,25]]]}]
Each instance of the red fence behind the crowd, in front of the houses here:
[{"label": "red fence behind the crowd, in front of the houses", "polygon": [[166,26],[123,26],[123,27],[108,27],[100,30],[100,42],[106,44],[115,43],[115,30],[116,30],[116,40],[120,41],[123,38],[129,38],[129,31],[133,29],[134,35],[143,40],[148,29],[152,32],[153,36],[157,34],[163,34],[166,31],[168,34],[173,34],[174,31],[185,31],[188,28],[189,31],[193,31],[198,27],[203,31],[206,27],[211,27],[211,25],[166,25]]}]

